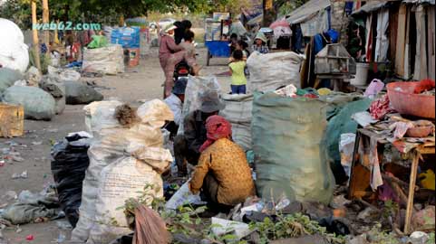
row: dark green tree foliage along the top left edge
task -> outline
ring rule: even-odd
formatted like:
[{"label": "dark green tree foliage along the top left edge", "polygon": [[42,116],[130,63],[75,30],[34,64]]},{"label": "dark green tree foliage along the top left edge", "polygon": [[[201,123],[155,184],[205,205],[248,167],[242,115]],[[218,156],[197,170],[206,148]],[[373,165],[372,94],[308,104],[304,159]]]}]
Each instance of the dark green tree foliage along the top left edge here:
[{"label": "dark green tree foliage along the top left edge", "polygon": [[[31,26],[32,0],[7,0],[0,6],[0,16],[10,19],[22,28]],[[42,14],[41,0],[37,2],[38,15]],[[50,19],[71,22],[118,23],[124,18],[147,16],[150,12],[205,13],[230,0],[49,0]]]}]

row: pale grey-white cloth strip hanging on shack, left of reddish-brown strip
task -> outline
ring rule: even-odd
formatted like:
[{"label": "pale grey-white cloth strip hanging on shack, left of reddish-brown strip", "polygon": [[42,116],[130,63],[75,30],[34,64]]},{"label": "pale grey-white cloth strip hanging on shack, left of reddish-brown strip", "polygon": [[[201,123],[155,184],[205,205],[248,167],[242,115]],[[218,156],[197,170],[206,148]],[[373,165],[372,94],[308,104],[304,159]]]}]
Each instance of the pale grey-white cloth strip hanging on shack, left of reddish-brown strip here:
[{"label": "pale grey-white cloth strip hanging on shack, left of reddish-brown strip", "polygon": [[389,9],[381,9],[377,14],[377,37],[375,41],[375,61],[386,61],[389,40],[386,35],[389,26]]}]

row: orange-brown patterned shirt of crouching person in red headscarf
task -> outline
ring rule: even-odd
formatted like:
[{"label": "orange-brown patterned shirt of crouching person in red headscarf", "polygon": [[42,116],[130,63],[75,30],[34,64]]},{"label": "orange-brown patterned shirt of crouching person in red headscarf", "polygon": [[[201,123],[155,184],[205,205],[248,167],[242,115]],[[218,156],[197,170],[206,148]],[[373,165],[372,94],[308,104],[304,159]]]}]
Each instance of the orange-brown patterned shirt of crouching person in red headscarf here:
[{"label": "orange-brown patterned shirt of crouching person in red headscarf", "polygon": [[218,203],[233,206],[256,193],[244,150],[227,138],[218,139],[201,153],[189,183],[191,192],[199,192],[208,173],[217,179]]}]

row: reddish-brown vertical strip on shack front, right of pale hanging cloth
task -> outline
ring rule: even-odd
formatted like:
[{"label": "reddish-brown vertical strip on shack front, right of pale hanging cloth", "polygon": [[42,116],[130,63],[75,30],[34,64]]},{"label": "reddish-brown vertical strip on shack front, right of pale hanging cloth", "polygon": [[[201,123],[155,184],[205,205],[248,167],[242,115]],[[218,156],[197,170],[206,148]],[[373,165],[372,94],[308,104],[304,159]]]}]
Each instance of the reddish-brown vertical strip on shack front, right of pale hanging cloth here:
[{"label": "reddish-brown vertical strip on shack front, right of pale hanging cloth", "polygon": [[407,6],[401,5],[398,13],[398,29],[395,49],[395,73],[404,77],[404,52],[406,47]]}]

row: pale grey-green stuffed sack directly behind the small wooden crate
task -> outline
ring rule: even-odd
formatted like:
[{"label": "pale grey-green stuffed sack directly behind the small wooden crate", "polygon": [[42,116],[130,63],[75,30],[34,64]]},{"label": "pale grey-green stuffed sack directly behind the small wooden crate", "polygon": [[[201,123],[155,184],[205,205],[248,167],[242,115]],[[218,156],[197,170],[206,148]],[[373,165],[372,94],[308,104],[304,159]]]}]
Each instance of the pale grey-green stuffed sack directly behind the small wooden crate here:
[{"label": "pale grey-green stuffed sack directly behind the small wooden crate", "polygon": [[5,90],[3,100],[24,106],[24,117],[36,120],[51,120],[55,114],[55,102],[44,89],[13,86]]}]

